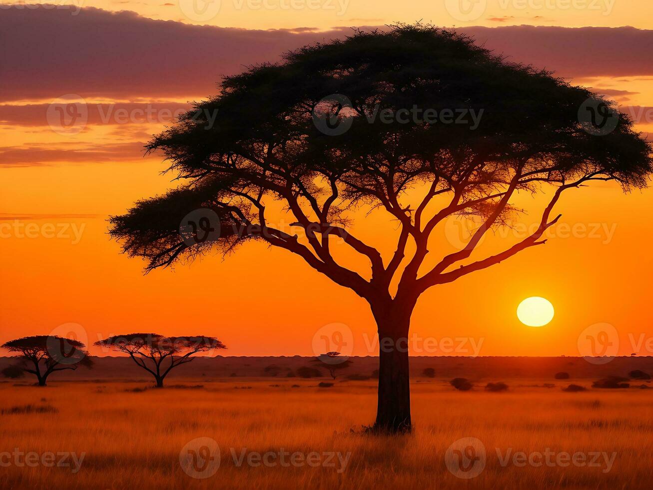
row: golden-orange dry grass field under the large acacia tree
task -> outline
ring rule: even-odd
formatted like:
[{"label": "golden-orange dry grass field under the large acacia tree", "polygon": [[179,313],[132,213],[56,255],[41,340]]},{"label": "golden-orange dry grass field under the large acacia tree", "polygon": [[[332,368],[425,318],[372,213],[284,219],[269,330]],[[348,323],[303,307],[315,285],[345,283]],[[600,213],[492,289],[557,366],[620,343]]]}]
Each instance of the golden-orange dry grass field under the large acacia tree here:
[{"label": "golden-orange dry grass field under the large acacia tree", "polygon": [[[374,382],[325,389],[315,380],[242,378],[145,391],[138,391],[143,383],[0,383],[0,488],[648,488],[652,390],[564,393],[562,384],[506,381],[511,389],[504,393],[454,391],[439,380],[414,383],[415,432],[397,438],[362,431],[374,420]],[[485,463],[475,478],[464,479],[445,459],[452,461],[455,453],[447,448],[467,437],[480,440],[486,456],[471,463],[454,459],[464,468]],[[219,446],[219,456],[210,453],[214,474],[208,478],[193,478],[180,464],[180,452],[187,453],[195,438]],[[205,454],[193,444],[191,450]],[[72,457],[71,466],[28,466],[8,455],[16,449],[74,451],[78,460],[86,454],[74,472]],[[554,464],[537,466],[547,450]],[[526,453],[525,465],[512,459],[518,451]],[[564,452],[581,455],[569,463],[560,457]],[[264,457],[264,464],[257,453],[274,456]]]}]

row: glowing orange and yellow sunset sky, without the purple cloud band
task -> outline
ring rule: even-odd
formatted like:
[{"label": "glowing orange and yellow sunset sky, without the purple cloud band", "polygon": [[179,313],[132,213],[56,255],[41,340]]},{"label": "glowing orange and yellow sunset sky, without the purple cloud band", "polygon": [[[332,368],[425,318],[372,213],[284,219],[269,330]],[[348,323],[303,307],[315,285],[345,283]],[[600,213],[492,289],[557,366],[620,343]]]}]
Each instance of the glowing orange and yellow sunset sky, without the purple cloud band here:
[{"label": "glowing orange and yellow sunset sky, without the purple cloud band", "polygon": [[[510,3],[488,4],[474,22],[459,22],[445,16],[443,2],[351,0],[347,12],[338,16],[309,9],[237,10],[234,3],[223,0],[218,16],[206,23],[247,29],[328,29],[424,18],[443,25],[653,28],[650,1],[616,1],[605,15],[607,10],[589,8],[524,10],[515,7],[520,3],[505,9],[500,5]],[[109,0],[84,5],[203,23],[182,19],[176,5]],[[24,10],[27,15],[33,11]],[[0,16],[6,12],[0,10]],[[328,37],[328,32],[325,35]],[[82,66],[84,42],[78,39]],[[138,48],[142,46],[136,45],[135,50]],[[628,50],[623,56],[629,56]],[[25,61],[30,62],[35,60]],[[215,60],[217,65],[220,62]],[[105,75],[109,86],[112,76],[110,72]],[[622,76],[575,76],[573,81],[605,91],[624,106],[653,106],[653,76],[628,72]],[[143,276],[144,263],[121,255],[118,244],[108,240],[106,218],[123,212],[136,199],[172,186],[172,176],[159,174],[165,164],[156,157],[143,158],[140,150],[148,135],[163,127],[165,114],[159,106],[153,118],[145,122],[128,118],[126,123],[115,114],[104,120],[100,114],[79,133],[59,134],[48,126],[43,112],[63,93],[46,95],[48,83],[55,82],[44,76],[43,97],[27,92],[21,96],[20,90],[14,90],[18,94],[14,99],[0,101],[0,111],[5,111],[0,112],[0,342],[50,333],[59,325],[75,323],[81,325],[74,327],[78,336],[86,336],[89,343],[131,331],[201,333],[218,336],[229,347],[229,355],[311,355],[315,333],[325,325],[343,323],[351,330],[353,353],[375,355],[370,348],[375,327],[367,304],[283,250],[249,244],[224,260],[207,257],[191,266],[178,265],[174,270],[155,270]],[[135,103],[175,107],[210,95],[189,91],[171,96],[163,88],[153,88],[151,99],[147,99],[103,90],[106,94],[100,90],[87,96],[86,103],[121,103],[131,114]],[[14,114],[12,111],[18,116],[4,116],[3,122],[2,114]],[[39,117],[31,120],[27,117],[30,111]],[[638,127],[653,132],[650,109],[646,114],[648,120],[642,118]],[[525,196],[518,201],[534,211],[543,202],[541,197]],[[477,345],[480,355],[578,355],[581,332],[594,323],[607,322],[619,333],[620,353],[650,355],[645,344],[638,350],[633,342],[653,336],[649,287],[653,261],[648,250],[653,238],[653,191],[623,195],[614,186],[594,185],[570,191],[558,210],[563,218],[545,246],[424,294],[413,315],[413,354],[469,355],[472,345]],[[536,218],[533,212],[524,222]],[[575,227],[573,233],[571,227]],[[360,221],[354,231],[385,252],[394,245],[392,223],[382,212]],[[437,246],[431,250],[449,253],[457,237],[456,223],[450,222],[437,231]],[[488,238],[478,256],[515,239],[510,234]],[[531,295],[546,297],[554,304],[556,316],[549,325],[532,328],[518,322],[517,304]],[[441,342],[460,337],[471,341],[453,352],[447,351],[447,342]],[[424,338],[432,340],[425,343]]]}]

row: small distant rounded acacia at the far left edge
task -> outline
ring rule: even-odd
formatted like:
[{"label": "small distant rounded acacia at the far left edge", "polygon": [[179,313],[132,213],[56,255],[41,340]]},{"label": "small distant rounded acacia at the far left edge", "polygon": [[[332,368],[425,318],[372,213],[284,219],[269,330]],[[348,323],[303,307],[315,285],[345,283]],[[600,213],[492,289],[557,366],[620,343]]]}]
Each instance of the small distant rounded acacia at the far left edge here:
[{"label": "small distant rounded acacia at the far left edge", "polygon": [[16,338],[0,347],[20,354],[22,363],[12,368],[34,374],[39,386],[45,386],[48,376],[55,371],[75,370],[80,366],[90,368],[93,365],[82,342],[57,335]]}]

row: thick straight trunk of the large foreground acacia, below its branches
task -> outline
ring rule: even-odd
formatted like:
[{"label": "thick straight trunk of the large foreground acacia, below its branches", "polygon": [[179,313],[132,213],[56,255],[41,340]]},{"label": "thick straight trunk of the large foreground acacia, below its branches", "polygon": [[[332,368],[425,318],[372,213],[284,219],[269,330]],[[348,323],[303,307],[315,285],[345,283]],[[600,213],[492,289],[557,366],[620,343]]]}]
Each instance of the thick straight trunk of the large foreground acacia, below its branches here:
[{"label": "thick straight trunk of the large foreground acacia, below its branches", "polygon": [[[376,316],[376,315],[375,315]],[[379,323],[379,400],[374,431],[409,433],[410,380],[408,374],[408,327],[411,310],[394,311]]]}]

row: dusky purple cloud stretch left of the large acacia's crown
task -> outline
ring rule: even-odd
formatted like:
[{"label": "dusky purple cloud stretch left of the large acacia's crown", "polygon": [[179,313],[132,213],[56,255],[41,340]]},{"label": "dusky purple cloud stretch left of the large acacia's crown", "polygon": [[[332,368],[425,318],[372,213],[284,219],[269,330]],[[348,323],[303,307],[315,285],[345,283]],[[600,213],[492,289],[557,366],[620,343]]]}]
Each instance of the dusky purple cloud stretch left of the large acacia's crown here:
[{"label": "dusky purple cloud stretch left of the large acacia's crown", "polygon": [[244,65],[345,32],[225,29],[90,7],[76,16],[10,8],[0,15],[0,101],[209,95],[221,76]]}]

